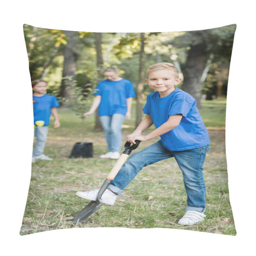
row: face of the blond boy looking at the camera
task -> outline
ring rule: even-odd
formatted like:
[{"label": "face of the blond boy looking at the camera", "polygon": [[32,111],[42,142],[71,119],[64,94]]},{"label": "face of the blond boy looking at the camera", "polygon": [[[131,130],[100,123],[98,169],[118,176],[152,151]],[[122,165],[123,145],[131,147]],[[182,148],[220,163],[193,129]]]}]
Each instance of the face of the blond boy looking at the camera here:
[{"label": "face of the blond boy looking at the camera", "polygon": [[162,98],[172,93],[175,90],[174,86],[179,84],[181,79],[172,75],[171,70],[162,69],[149,73],[145,81],[151,89],[159,92]]}]

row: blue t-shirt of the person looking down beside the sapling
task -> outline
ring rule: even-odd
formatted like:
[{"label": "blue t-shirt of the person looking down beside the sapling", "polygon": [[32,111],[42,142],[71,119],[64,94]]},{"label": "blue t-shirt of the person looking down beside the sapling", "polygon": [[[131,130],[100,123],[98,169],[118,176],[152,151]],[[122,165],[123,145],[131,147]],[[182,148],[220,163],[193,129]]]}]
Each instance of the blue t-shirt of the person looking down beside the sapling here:
[{"label": "blue t-shirt of the person looking down beside the sapling", "polygon": [[99,116],[112,116],[114,114],[126,115],[126,99],[135,97],[131,81],[122,78],[119,81],[109,79],[101,81],[96,87],[94,95],[100,95]]}]

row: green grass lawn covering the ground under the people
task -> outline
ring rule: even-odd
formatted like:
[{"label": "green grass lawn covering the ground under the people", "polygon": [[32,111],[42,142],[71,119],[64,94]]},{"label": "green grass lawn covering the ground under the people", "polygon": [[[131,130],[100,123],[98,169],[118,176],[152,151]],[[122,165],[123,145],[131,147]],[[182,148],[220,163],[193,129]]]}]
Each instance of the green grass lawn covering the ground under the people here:
[{"label": "green grass lawn covering the ground under the people", "polygon": [[[134,106],[132,111],[132,120],[124,123],[123,142],[134,129]],[[99,158],[107,151],[107,146],[103,132],[93,132],[94,116],[85,119],[83,124],[70,110],[60,108],[58,112],[61,127],[52,128],[51,120],[45,148],[45,154],[54,159],[32,164],[20,235],[79,227],[176,228],[236,235],[228,193],[225,101],[204,101],[200,110],[211,138],[211,150],[204,164],[207,218],[193,226],[177,223],[184,214],[186,193],[174,159],[145,167],[118,196],[116,204],[103,204],[84,223],[73,224],[77,212],[89,203],[77,197],[76,191],[99,188],[116,160]],[[74,143],[82,139],[93,142],[94,157],[68,158]],[[141,143],[140,149],[157,140]]]}]

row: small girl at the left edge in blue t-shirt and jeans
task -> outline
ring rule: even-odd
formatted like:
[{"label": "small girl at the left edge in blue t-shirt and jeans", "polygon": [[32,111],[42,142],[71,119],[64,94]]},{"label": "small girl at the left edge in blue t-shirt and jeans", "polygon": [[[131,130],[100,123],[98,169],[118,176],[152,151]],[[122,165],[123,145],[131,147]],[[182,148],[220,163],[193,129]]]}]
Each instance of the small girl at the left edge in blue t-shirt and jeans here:
[{"label": "small girl at the left edge in blue t-shirt and jeans", "polygon": [[60,104],[55,96],[46,94],[47,83],[44,80],[37,79],[32,81],[31,84],[33,91],[34,124],[36,121],[44,121],[44,126],[36,126],[34,130],[36,144],[32,155],[32,163],[35,163],[38,159],[51,161],[52,158],[44,155],[44,148],[51,115],[55,119],[54,128],[60,127],[56,108]]}]

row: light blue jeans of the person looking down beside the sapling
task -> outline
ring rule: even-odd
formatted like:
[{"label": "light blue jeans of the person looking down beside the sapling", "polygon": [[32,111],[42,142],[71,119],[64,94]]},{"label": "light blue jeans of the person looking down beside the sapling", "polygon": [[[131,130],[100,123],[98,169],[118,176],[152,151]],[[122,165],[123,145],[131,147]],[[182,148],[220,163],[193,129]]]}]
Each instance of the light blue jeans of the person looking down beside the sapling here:
[{"label": "light blue jeans of the person looking down beside the sapling", "polygon": [[122,144],[122,125],[124,115],[114,114],[112,116],[100,116],[104,129],[104,135],[108,143],[109,152],[120,152]]}]

